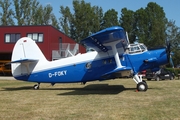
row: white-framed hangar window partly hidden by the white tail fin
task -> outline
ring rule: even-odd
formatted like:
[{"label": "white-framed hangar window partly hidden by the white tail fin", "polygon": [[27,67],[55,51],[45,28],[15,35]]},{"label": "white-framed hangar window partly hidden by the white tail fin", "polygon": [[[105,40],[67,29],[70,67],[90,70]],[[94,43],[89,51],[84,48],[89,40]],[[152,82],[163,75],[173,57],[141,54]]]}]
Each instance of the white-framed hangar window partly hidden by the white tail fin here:
[{"label": "white-framed hangar window partly hidden by the white tail fin", "polygon": [[43,34],[42,33],[28,33],[27,37],[33,39],[36,42],[43,42]]}]

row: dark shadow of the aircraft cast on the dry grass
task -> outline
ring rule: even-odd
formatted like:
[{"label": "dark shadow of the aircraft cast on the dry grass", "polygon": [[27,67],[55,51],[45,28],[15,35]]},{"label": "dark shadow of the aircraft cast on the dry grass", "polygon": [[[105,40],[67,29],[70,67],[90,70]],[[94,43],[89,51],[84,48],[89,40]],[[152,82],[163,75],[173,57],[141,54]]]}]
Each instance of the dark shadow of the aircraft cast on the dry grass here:
[{"label": "dark shadow of the aircraft cast on the dry grass", "polygon": [[[32,86],[23,86],[23,87],[11,87],[3,88],[1,91],[20,91],[20,90],[33,90]],[[136,88],[125,88],[123,85],[109,85],[109,84],[91,84],[86,85],[82,88],[67,87],[67,88],[40,88],[38,91],[43,90],[64,90],[67,92],[60,93],[57,95],[89,95],[89,94],[118,94],[123,91],[135,91]]]}]

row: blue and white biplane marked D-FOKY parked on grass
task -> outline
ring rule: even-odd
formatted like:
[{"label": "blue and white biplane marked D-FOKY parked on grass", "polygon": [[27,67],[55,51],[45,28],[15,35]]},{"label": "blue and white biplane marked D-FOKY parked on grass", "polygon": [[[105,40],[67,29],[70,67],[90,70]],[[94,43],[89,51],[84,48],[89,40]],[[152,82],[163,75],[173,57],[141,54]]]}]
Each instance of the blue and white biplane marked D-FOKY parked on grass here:
[{"label": "blue and white biplane marked D-FOKY parked on grass", "polygon": [[91,52],[48,61],[31,38],[19,39],[11,58],[12,75],[17,80],[40,83],[86,83],[108,80],[132,74],[138,91],[148,85],[138,72],[159,69],[169,62],[169,47],[147,50],[143,44],[129,44],[122,27],[114,26],[99,31],[81,41]]}]

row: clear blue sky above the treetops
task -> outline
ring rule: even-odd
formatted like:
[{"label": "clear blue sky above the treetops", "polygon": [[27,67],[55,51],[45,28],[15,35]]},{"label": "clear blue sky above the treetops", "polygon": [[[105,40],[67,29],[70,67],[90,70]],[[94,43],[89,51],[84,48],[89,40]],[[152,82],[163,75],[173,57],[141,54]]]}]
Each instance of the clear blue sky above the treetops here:
[{"label": "clear blue sky above the treetops", "polygon": [[[59,18],[60,6],[68,6],[73,12],[73,0],[38,0],[41,5],[46,6],[50,4],[53,7],[53,13],[56,18]],[[149,2],[156,2],[163,7],[168,20],[174,20],[176,26],[180,27],[180,0],[84,0],[86,3],[91,3],[91,6],[102,7],[106,12],[109,9],[115,9],[118,16],[121,15],[121,9],[127,8],[128,10],[136,11],[140,8],[145,8]]]}]

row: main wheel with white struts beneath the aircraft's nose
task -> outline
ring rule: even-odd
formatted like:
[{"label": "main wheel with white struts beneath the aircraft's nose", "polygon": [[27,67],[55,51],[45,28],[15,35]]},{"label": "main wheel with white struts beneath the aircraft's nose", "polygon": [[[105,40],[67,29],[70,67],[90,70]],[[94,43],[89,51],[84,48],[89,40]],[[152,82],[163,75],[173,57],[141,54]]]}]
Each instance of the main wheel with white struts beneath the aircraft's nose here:
[{"label": "main wheel with white struts beneath the aircraft's nose", "polygon": [[138,76],[137,74],[134,75],[133,80],[137,84],[138,91],[146,91],[148,89],[148,85],[146,81],[142,80],[142,76]]}]

